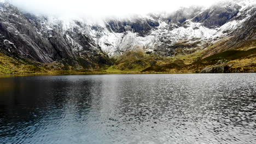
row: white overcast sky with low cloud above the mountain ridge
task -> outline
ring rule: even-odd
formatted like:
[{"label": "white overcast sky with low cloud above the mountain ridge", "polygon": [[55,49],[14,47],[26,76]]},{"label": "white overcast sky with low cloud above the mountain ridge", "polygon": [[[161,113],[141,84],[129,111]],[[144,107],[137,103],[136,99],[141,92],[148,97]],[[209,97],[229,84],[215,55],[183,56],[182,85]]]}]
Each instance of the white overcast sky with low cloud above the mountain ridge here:
[{"label": "white overcast sky with low cloud above the mountain ridge", "polygon": [[36,14],[106,17],[173,11],[189,5],[208,6],[218,0],[7,0]]}]

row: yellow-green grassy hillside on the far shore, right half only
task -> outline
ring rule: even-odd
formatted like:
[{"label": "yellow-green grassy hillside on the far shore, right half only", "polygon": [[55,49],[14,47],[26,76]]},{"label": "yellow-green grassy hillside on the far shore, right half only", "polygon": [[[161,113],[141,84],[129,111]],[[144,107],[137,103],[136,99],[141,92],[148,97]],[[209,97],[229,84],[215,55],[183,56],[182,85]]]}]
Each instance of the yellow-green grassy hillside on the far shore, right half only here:
[{"label": "yellow-green grassy hillside on the far shore, right half only", "polygon": [[[117,63],[107,71],[141,71],[144,73],[199,73],[205,67],[228,65],[230,72],[256,71],[255,40],[249,40],[234,49],[225,50],[225,41],[209,46],[207,49],[178,55],[176,57],[160,57],[147,55],[141,51],[127,52],[119,57]],[[155,64],[150,64],[155,62]]]}]

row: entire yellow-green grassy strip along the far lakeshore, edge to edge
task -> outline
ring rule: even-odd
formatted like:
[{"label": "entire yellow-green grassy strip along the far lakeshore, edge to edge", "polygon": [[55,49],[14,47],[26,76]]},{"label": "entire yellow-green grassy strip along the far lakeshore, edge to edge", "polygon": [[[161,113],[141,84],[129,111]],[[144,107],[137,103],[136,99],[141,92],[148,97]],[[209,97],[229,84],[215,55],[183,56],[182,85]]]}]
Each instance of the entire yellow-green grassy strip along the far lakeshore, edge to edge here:
[{"label": "entire yellow-green grassy strip along the far lakeshore, edge to edge", "polygon": [[256,71],[255,40],[225,51],[226,39],[190,55],[161,57],[142,50],[115,58],[115,64],[101,70],[72,70],[60,63],[40,64],[22,61],[0,53],[0,74],[106,74],[106,73],[198,73],[205,67],[229,65],[230,72]]}]

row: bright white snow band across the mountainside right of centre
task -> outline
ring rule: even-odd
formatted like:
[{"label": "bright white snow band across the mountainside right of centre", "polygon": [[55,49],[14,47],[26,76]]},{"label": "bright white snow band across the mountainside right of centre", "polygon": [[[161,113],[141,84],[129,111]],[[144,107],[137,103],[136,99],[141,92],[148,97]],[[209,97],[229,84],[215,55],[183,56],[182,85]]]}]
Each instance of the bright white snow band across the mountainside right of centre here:
[{"label": "bright white snow band across the mountainside right of centre", "polygon": [[[255,7],[254,1],[239,1],[237,3],[226,2],[226,5],[222,5],[225,9],[231,9],[235,7],[235,4],[241,5],[241,10],[237,16],[244,15],[243,11],[248,8]],[[248,10],[246,10],[248,11]],[[203,13],[203,11],[202,11]],[[246,17],[241,20],[231,19],[224,25],[216,28],[207,28],[200,22],[193,22],[191,19],[184,21],[183,23],[170,23],[167,24],[163,18],[155,19],[150,15],[143,17],[143,19],[158,21],[160,25],[150,30],[149,34],[145,37],[141,37],[133,31],[116,33],[108,31],[106,27],[102,27],[103,33],[101,37],[96,38],[95,33],[87,32],[91,37],[95,37],[97,44],[101,49],[108,53],[109,56],[120,55],[126,50],[135,49],[141,47],[145,51],[153,51],[156,47],[162,43],[173,45],[180,40],[203,41],[204,43],[213,43],[222,37],[228,36],[234,29],[240,27],[251,15],[248,13]],[[174,27],[170,29],[170,27]],[[162,39],[162,41],[160,40]]]}]

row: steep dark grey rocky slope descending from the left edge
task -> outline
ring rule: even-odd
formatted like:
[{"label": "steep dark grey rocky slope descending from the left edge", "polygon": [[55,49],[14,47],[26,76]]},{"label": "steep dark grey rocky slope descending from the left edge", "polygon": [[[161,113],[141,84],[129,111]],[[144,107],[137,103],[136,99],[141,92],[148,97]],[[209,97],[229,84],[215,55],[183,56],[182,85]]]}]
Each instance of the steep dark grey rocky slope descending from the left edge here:
[{"label": "steep dark grey rocky slope descending from the left edge", "polygon": [[22,13],[9,3],[0,3],[0,9],[1,52],[41,63],[65,61],[78,69],[81,65],[97,68],[110,64],[108,56],[79,32],[79,27],[65,31],[62,21]]}]

